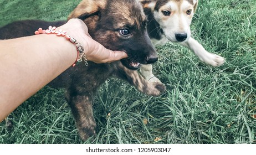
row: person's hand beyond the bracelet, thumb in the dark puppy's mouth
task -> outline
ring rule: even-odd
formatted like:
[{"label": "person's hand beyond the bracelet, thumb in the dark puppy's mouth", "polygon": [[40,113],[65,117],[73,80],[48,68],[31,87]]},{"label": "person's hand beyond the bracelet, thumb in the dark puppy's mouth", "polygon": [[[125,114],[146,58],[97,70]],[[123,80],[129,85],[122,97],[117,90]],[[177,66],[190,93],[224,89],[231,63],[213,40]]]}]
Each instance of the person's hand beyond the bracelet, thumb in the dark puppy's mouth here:
[{"label": "person's hand beyond the bracelet, thumb in the dark puppy's mouth", "polygon": [[112,61],[127,58],[127,54],[124,51],[106,49],[103,45],[93,40],[83,20],[70,19],[68,23],[57,29],[63,29],[68,35],[75,38],[84,47],[86,59],[89,61],[94,63],[111,63]]}]

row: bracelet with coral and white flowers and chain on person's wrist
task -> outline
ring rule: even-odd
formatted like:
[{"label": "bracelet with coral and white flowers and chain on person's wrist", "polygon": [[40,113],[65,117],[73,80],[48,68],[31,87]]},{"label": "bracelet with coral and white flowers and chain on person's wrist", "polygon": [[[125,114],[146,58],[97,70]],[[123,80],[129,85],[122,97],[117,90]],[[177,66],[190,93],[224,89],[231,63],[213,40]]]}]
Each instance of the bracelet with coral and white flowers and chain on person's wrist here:
[{"label": "bracelet with coral and white flowers and chain on person's wrist", "polygon": [[43,30],[42,28],[39,28],[37,31],[35,31],[35,35],[38,34],[56,34],[58,37],[62,36],[68,39],[71,43],[75,44],[76,50],[78,51],[78,56],[76,57],[75,63],[72,66],[75,66],[76,63],[83,61],[85,62],[85,66],[88,66],[88,60],[86,59],[86,55],[84,54],[84,47],[76,41],[75,38],[71,37],[70,35],[67,35],[66,32],[62,29],[56,31],[56,27],[49,26],[47,30]]}]

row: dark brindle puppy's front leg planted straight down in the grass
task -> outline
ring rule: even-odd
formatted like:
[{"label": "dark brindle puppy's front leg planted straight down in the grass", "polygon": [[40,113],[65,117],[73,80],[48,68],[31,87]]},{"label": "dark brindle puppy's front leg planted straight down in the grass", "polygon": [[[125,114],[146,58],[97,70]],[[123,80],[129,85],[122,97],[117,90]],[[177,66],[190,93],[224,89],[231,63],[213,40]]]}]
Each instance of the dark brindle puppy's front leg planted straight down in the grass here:
[{"label": "dark brindle puppy's front leg planted straight down in the grass", "polygon": [[96,123],[93,116],[93,104],[91,96],[73,95],[67,92],[66,100],[69,103],[71,112],[74,115],[76,127],[80,138],[85,141],[95,135]]}]

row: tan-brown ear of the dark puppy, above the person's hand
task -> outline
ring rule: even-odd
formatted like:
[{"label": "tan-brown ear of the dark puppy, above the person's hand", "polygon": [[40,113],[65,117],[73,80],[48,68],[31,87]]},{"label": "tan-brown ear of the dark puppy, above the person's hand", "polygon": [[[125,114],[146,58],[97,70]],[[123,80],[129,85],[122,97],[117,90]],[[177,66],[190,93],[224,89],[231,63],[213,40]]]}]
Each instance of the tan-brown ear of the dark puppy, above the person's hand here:
[{"label": "tan-brown ear of the dark puppy, above the person's hand", "polygon": [[106,1],[87,0],[81,1],[73,12],[69,14],[68,20],[71,18],[79,18],[84,20],[90,16],[98,14],[100,9],[104,9]]}]

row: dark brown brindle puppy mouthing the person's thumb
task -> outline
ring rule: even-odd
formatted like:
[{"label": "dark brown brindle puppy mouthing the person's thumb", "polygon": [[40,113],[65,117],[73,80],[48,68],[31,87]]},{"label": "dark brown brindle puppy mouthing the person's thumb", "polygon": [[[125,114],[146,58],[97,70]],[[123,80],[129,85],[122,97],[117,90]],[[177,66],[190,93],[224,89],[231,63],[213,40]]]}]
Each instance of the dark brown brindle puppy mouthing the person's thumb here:
[{"label": "dark brown brindle puppy mouthing the person's thumb", "polygon": [[[75,117],[79,135],[85,140],[95,134],[93,95],[108,77],[124,79],[139,91],[153,96],[165,91],[165,85],[148,82],[136,71],[140,64],[150,64],[157,60],[155,48],[146,32],[147,19],[139,1],[84,0],[70,14],[70,18],[82,19],[88,26],[91,37],[106,48],[122,50],[129,55],[129,58],[110,64],[78,64],[49,84],[66,89],[65,97]],[[0,29],[0,39],[33,35],[39,27],[46,29],[49,25],[59,26],[64,23],[38,20],[16,22]],[[16,26],[19,29],[15,29]]]}]

